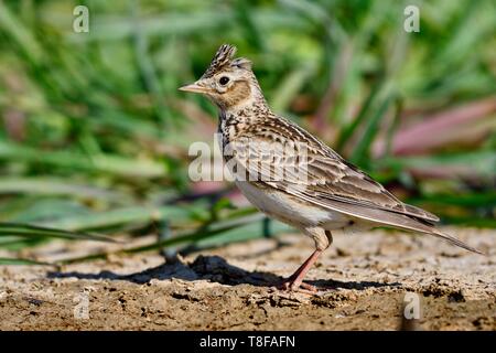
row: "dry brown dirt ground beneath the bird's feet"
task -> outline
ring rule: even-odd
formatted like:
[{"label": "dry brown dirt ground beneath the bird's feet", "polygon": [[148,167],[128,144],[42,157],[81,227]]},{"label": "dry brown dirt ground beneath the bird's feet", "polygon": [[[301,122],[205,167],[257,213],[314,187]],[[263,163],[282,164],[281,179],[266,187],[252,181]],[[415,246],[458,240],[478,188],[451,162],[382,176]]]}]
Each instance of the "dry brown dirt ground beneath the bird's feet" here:
[{"label": "dry brown dirt ground beneath the bird's feet", "polygon": [[[296,234],[203,250],[170,265],[149,253],[58,270],[3,266],[0,329],[496,330],[496,231],[445,231],[488,255],[400,232],[337,234],[309,272],[319,287],[314,296],[270,288],[313,249]],[[53,260],[101,248],[61,242],[34,252]],[[420,319],[403,319],[409,303]]]}]

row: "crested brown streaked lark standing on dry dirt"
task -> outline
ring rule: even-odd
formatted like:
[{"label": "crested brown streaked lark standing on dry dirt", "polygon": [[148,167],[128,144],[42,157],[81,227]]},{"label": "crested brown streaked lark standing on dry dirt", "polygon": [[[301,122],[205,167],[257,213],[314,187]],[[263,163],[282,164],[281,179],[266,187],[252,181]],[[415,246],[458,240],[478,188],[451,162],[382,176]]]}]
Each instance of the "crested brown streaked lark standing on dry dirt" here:
[{"label": "crested brown streaked lark standing on dry dirt", "polygon": [[236,46],[220,45],[201,78],[179,89],[206,96],[217,106],[225,163],[246,199],[314,240],[315,250],[277,288],[315,292],[303,279],[338,229],[399,228],[482,254],[436,228],[438,216],[401,202],[319,138],[274,114],[251,61],[235,55]]}]

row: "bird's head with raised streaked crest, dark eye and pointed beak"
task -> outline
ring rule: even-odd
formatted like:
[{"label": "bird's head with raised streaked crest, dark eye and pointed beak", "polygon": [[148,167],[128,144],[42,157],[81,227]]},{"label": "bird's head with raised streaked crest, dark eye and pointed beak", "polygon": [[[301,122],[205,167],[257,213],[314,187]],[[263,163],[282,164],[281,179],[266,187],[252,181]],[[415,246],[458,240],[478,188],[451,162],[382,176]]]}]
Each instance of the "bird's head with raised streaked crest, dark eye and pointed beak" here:
[{"label": "bird's head with raised streaked crest, dark eye and pointed beak", "polygon": [[235,46],[222,45],[203,76],[180,90],[203,94],[220,109],[239,108],[260,99],[265,101],[251,62],[244,57],[234,58],[235,53]]}]

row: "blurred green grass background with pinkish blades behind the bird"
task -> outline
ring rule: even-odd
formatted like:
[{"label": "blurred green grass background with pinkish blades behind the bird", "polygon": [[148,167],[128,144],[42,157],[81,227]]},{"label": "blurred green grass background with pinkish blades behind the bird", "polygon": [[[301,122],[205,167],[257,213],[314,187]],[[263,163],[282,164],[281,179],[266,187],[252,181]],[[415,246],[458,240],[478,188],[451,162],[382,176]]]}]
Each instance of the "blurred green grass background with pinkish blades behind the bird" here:
[{"label": "blurred green grass background with pinkish blades behind the bird", "polygon": [[[73,30],[78,4],[88,33]],[[409,4],[419,33],[403,30]],[[217,118],[177,87],[225,42],[274,111],[403,201],[495,227],[495,1],[0,0],[0,249],[83,232],[191,249],[287,231],[228,183],[187,178],[187,148],[212,143]]]}]

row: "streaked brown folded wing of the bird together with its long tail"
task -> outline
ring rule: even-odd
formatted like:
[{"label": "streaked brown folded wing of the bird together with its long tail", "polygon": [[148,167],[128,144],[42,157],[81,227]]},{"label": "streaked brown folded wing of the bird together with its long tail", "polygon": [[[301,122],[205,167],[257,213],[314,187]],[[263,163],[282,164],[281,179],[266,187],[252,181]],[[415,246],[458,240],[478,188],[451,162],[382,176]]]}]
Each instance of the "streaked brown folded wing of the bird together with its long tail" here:
[{"label": "streaked brown folded wing of the bird together with its long tail", "polygon": [[[231,143],[238,176],[370,223],[432,234],[481,253],[433,227],[439,218],[407,205],[305,130],[283,121],[259,124]],[[302,142],[301,145],[299,142]],[[289,147],[288,147],[289,146]],[[234,163],[233,163],[234,164]]]}]

